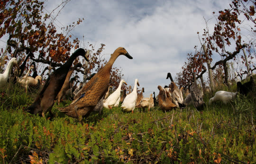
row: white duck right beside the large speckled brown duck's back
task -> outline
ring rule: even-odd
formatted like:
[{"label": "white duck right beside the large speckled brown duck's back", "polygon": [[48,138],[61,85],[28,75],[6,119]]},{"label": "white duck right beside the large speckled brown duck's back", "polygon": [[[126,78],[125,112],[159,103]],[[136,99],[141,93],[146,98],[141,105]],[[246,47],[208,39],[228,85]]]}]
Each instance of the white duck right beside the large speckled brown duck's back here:
[{"label": "white duck right beside the large speckled brown duck's back", "polygon": [[103,106],[107,109],[111,109],[113,106],[118,106],[120,101],[120,94],[121,94],[121,87],[122,84],[127,85],[124,79],[122,79],[119,83],[118,88],[113,92],[111,95],[108,96],[108,98],[103,103]]}]

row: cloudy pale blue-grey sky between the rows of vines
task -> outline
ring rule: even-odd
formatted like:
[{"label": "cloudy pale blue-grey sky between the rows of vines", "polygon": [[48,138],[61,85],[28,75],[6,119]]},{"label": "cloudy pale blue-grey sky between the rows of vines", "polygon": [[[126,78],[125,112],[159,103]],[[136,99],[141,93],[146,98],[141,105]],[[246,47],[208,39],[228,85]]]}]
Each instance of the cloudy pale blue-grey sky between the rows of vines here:
[{"label": "cloudy pale blue-grey sky between the rows of vines", "polygon": [[[138,78],[145,97],[157,86],[170,84],[182,71],[187,53],[200,45],[198,34],[206,27],[212,30],[216,23],[212,12],[229,7],[231,0],[71,0],[61,10],[55,23],[67,26],[78,18],[84,21],[72,31],[82,48],[89,44],[100,47],[106,60],[118,47],[124,47],[132,60],[121,55],[113,67],[120,67],[124,80],[134,86]],[[46,12],[56,8],[61,0],[46,1]],[[57,14],[55,12],[54,14]],[[84,43],[82,36],[84,35]]]}]

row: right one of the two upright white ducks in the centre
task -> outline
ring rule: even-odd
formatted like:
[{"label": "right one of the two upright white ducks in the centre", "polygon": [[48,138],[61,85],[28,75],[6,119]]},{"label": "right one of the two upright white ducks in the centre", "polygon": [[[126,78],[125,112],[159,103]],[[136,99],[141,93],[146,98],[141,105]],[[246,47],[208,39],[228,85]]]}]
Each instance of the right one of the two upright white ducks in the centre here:
[{"label": "right one of the two upright white ducks in the centre", "polygon": [[138,83],[138,79],[136,78],[133,91],[125,97],[121,105],[121,108],[123,108],[123,110],[126,112],[131,111],[133,113],[133,110],[136,105],[136,100],[137,100],[137,85],[139,86],[139,83]]}]

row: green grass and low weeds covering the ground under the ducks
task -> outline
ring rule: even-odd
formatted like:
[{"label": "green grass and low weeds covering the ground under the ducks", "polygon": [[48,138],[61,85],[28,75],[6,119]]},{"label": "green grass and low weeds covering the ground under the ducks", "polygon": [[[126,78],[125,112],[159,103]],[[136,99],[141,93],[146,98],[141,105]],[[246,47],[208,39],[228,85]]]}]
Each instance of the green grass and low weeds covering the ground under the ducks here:
[{"label": "green grass and low weeds covering the ground under the ducks", "polygon": [[49,120],[24,111],[35,95],[7,86],[0,99],[0,163],[255,163],[255,97],[208,106],[209,97],[202,112],[114,107],[81,124],[56,110],[70,101],[55,104]]}]

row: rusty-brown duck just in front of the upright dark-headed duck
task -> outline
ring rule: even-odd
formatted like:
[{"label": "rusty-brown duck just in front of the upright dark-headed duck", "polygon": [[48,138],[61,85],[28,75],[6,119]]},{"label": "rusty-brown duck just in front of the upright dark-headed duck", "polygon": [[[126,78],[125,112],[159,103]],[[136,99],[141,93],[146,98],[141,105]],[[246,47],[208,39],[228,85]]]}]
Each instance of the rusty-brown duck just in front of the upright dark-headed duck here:
[{"label": "rusty-brown duck just in front of the upright dark-headed duck", "polygon": [[173,103],[172,97],[170,94],[166,93],[165,88],[162,86],[157,86],[159,90],[158,94],[158,104],[162,111],[171,111],[172,109],[176,108],[177,105]]}]

